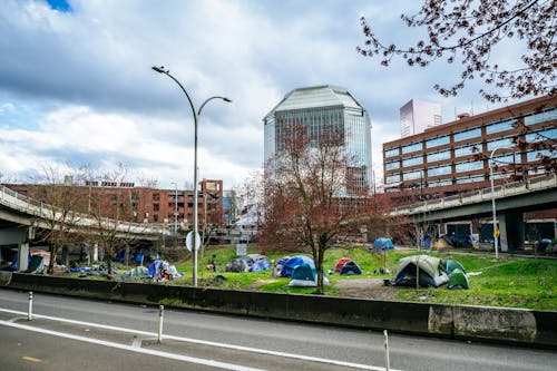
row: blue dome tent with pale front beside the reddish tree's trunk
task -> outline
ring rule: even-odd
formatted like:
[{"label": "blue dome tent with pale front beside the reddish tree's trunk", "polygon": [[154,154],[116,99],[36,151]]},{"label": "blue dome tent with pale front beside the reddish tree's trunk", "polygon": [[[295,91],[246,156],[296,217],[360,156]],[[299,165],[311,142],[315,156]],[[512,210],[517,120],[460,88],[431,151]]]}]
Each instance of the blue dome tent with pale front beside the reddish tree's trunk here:
[{"label": "blue dome tent with pale front beside the reddish tree's trunk", "polygon": [[[282,257],[275,264],[273,276],[291,277],[289,286],[317,286],[317,272],[315,270],[315,263],[311,257],[305,255]],[[329,284],[329,280],[325,276],[323,277],[323,284]]]}]

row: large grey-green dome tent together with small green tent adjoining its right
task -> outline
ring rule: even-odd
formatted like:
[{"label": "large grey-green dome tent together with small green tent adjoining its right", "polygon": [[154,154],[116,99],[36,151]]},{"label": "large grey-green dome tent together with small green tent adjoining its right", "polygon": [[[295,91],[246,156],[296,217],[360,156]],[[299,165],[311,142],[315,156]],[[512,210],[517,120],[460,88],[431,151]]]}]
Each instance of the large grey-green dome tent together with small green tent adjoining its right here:
[{"label": "large grey-green dome tent together with small green tent adjoining its right", "polygon": [[455,260],[441,260],[429,255],[412,255],[399,261],[394,285],[439,287],[448,283],[449,289],[468,289],[465,267]]}]

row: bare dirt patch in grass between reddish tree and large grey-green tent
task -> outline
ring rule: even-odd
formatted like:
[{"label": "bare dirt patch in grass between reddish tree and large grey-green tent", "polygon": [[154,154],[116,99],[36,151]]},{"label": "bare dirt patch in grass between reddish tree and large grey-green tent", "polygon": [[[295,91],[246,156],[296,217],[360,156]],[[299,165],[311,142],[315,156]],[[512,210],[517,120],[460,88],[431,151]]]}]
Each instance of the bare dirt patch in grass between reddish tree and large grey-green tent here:
[{"label": "bare dirt patch in grass between reddish tree and large grey-green tent", "polygon": [[335,289],[340,296],[395,300],[399,291],[393,286],[385,286],[382,279],[349,279],[339,281]]}]

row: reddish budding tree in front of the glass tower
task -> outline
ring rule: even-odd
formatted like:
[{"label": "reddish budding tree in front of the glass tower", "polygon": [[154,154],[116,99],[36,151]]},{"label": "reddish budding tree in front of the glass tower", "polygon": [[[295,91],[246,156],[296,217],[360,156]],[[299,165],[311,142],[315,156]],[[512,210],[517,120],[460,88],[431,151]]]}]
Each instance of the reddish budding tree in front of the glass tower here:
[{"label": "reddish budding tree in front of the glass tower", "polygon": [[[323,261],[335,238],[359,231],[370,212],[365,187],[351,175],[353,159],[342,146],[342,133],[311,136],[302,125],[285,128],[283,149],[267,169],[261,244],[266,248],[309,248],[323,294]],[[349,194],[350,192],[350,194]]]}]

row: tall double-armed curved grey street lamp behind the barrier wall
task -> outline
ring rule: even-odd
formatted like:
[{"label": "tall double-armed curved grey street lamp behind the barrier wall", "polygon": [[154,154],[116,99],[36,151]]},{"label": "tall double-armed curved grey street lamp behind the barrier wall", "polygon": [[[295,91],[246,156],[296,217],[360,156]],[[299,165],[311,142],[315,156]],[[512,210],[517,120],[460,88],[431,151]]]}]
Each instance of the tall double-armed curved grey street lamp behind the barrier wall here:
[{"label": "tall double-armed curved grey street lamp behind the barrier wall", "polygon": [[159,72],[159,74],[164,74],[166,76],[168,76],[169,78],[172,78],[174,80],[174,82],[176,82],[179,88],[182,89],[182,91],[184,91],[184,94],[186,95],[186,98],[187,98],[187,101],[189,102],[189,108],[192,108],[192,114],[194,115],[194,127],[195,127],[195,130],[194,130],[194,241],[193,241],[193,251],[194,251],[194,273],[193,273],[193,280],[194,280],[194,286],[197,286],[197,235],[198,235],[198,231],[199,231],[199,226],[198,226],[198,217],[197,217],[197,124],[199,121],[199,116],[202,114],[202,110],[203,108],[205,107],[205,105],[209,101],[209,100],[213,100],[213,99],[222,99],[226,102],[232,102],[231,99],[226,98],[226,97],[221,97],[221,96],[213,96],[213,97],[209,97],[207,99],[205,99],[205,101],[199,106],[199,109],[196,111],[195,110],[195,107],[194,107],[194,102],[192,101],[192,98],[189,97],[189,95],[187,94],[186,89],[182,86],[182,84],[179,84],[179,81],[170,75],[170,71],[165,69],[164,66],[160,66],[160,67],[156,67],[156,66],[153,66],[152,67],[153,70]]}]

